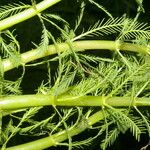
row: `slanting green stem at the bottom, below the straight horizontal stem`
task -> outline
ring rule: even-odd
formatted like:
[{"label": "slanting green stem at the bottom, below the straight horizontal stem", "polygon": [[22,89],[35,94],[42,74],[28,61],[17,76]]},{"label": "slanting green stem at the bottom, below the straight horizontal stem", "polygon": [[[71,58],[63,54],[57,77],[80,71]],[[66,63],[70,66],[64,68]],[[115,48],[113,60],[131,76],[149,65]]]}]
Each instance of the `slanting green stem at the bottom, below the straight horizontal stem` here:
[{"label": "slanting green stem at the bottom, below the straight horizontal stem", "polygon": [[102,119],[104,119],[103,111],[98,111],[88,119],[83,119],[76,126],[69,128],[67,131],[68,133],[66,132],[66,130],[64,130],[46,138],[6,148],[6,150],[41,150],[51,146],[57,146],[60,142],[68,139],[68,134],[71,137],[75,136]]}]

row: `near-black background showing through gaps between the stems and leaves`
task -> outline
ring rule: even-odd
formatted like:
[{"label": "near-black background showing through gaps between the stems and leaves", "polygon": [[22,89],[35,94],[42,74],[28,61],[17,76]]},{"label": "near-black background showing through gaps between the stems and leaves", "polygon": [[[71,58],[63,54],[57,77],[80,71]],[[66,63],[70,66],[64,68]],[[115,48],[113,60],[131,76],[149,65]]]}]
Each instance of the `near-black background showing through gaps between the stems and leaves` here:
[{"label": "near-black background showing through gaps between the stems and leaves", "polygon": [[[36,0],[36,2],[40,2],[41,0]],[[80,1],[80,0],[79,0]],[[0,0],[0,6],[6,5],[8,3],[17,3],[19,0]],[[23,3],[29,3],[30,0],[24,0]],[[122,15],[126,14],[128,17],[133,18],[136,15],[137,12],[137,3],[135,0],[96,0],[100,5],[104,6],[114,17],[121,17]],[[60,3],[56,4],[52,8],[46,10],[46,12],[58,14],[62,18],[64,18],[69,24],[70,29],[74,28],[76,18],[79,14],[79,6],[80,2],[77,2],[77,0],[62,0]],[[140,22],[148,22],[150,20],[150,8],[149,8],[149,1],[144,0],[143,3],[145,13],[141,14],[139,17]],[[108,16],[103,12],[97,9],[96,7],[92,7],[90,3],[87,3],[84,17],[81,23],[80,28],[77,30],[76,34],[79,34],[82,32],[83,28],[87,29],[91,25],[93,25],[98,20],[102,20],[103,18],[108,18]],[[62,26],[61,23],[57,22],[59,26]],[[47,28],[52,32],[53,36],[57,39],[60,37],[60,32],[58,32],[53,26],[47,24]],[[23,23],[17,24],[10,28],[10,30],[15,29],[15,34],[17,35],[17,40],[20,43],[21,46],[21,53],[26,52],[32,48],[35,48],[33,43],[38,44],[41,40],[41,23],[38,19],[38,17],[34,17],[32,19],[29,19]],[[95,38],[97,39],[97,37]],[[103,39],[115,39],[115,36],[109,36],[109,37],[103,37]],[[94,53],[94,55],[99,55],[99,53]],[[105,55],[109,56],[109,53],[105,53]],[[56,70],[57,70],[57,62],[51,63],[51,69],[52,69],[52,76],[54,76]],[[20,75],[22,68],[13,69],[11,71],[6,72],[5,78],[9,80],[16,80]],[[53,77],[52,77],[53,78]],[[47,69],[45,65],[39,65],[36,67],[27,67],[26,73],[23,79],[23,82],[21,84],[22,87],[22,93],[23,94],[31,94],[36,93],[36,89],[40,86],[40,84],[47,81]],[[46,110],[44,112],[41,112],[41,115],[45,115]],[[6,119],[7,121],[7,119]],[[82,138],[82,136],[85,137],[85,135],[88,137],[88,135],[94,134],[93,131],[84,132],[79,136],[74,137]],[[148,137],[146,135],[143,135],[141,138],[141,141],[138,143],[135,141],[134,137],[130,133],[127,133],[125,135],[120,135],[119,138],[116,140],[115,144],[108,148],[108,150],[139,150],[142,146],[147,144]],[[14,139],[14,143],[19,144],[28,141],[26,138],[19,139],[19,136],[16,139]],[[35,140],[35,138],[34,138]],[[89,147],[85,147],[86,150],[100,150],[99,144],[100,144],[101,138],[95,140],[93,144],[91,144]],[[12,141],[13,142],[13,141]],[[10,144],[11,145],[11,144]],[[54,147],[50,149],[62,149],[62,147]],[[65,148],[64,148],[65,149]],[[66,148],[67,149],[67,148]]]}]

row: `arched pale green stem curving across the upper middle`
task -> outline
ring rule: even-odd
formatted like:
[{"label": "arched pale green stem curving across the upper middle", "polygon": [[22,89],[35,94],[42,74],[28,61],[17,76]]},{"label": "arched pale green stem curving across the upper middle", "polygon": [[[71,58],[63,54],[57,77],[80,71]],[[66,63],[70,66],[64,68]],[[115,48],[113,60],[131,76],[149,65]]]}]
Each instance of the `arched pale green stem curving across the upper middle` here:
[{"label": "arched pale green stem curving across the upper middle", "polygon": [[[118,45],[115,41],[103,41],[103,40],[86,40],[86,41],[76,41],[72,43],[73,46],[77,51],[84,51],[84,50],[103,50],[108,49],[115,51],[118,48]],[[69,49],[69,45],[67,43],[60,43],[56,45],[49,45],[48,49],[41,52],[39,49],[30,50],[28,52],[25,52],[21,54],[21,62],[20,65],[26,64],[28,62],[31,62],[33,60],[53,55],[59,52],[63,52],[65,50]],[[146,46],[141,46],[137,44],[131,44],[131,43],[121,43],[119,44],[119,49],[124,51],[132,51],[132,52],[139,52],[139,53],[149,53],[149,48]],[[13,63],[11,59],[5,59],[2,62],[4,71],[11,70],[18,65]]]}]

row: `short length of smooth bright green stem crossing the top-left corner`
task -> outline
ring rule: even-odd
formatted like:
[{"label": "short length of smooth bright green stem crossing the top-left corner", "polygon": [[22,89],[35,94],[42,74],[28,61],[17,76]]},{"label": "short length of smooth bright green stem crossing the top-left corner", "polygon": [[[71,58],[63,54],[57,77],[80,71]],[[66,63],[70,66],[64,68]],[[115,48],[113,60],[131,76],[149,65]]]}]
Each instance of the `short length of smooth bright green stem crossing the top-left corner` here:
[{"label": "short length of smooth bright green stem crossing the top-left corner", "polygon": [[32,18],[36,16],[38,13],[42,12],[43,10],[51,7],[52,5],[60,1],[61,0],[43,0],[42,2],[35,5],[34,7],[24,10],[14,16],[8,17],[0,21],[0,31],[12,27],[13,25],[23,22],[29,18]]}]

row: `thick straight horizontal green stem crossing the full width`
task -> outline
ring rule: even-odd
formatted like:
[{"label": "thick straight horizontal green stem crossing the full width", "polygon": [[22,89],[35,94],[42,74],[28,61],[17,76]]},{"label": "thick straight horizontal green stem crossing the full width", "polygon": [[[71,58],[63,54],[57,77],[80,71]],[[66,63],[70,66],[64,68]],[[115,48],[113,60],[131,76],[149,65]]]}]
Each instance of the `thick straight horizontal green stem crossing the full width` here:
[{"label": "thick straight horizontal green stem crossing the full width", "polygon": [[103,96],[66,96],[55,99],[50,95],[19,95],[6,96],[0,98],[0,110],[15,110],[34,106],[104,106],[105,104],[112,107],[129,107],[129,106],[150,106],[150,98],[130,97],[103,97]]}]

